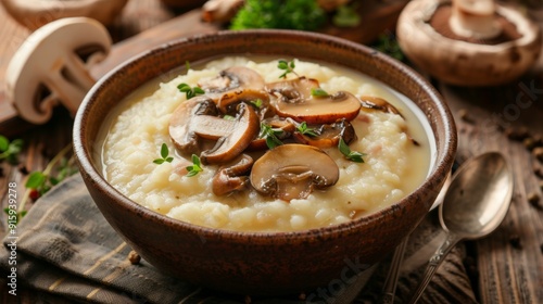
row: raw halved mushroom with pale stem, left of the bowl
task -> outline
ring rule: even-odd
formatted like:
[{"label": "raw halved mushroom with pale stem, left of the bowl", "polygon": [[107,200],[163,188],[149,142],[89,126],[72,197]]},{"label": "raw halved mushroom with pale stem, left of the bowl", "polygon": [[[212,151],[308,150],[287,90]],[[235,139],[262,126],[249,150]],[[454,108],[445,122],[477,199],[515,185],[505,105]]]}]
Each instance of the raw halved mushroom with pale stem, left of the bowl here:
[{"label": "raw halved mushroom with pale stem, left of the bowl", "polygon": [[[81,35],[85,33],[85,35]],[[43,124],[62,103],[75,115],[96,80],[88,71],[110,52],[108,29],[87,17],[63,18],[34,31],[5,71],[8,99],[22,118]]]}]

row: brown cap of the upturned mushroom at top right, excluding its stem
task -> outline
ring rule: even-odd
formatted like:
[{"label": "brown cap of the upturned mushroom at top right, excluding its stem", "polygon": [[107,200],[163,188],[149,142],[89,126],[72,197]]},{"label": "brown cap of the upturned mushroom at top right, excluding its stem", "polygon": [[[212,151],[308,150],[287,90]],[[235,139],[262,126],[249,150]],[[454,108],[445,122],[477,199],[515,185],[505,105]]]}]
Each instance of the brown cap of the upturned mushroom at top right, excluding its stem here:
[{"label": "brown cap of the upturned mushroom at top right, excluding its stem", "polygon": [[518,78],[541,52],[540,28],[522,13],[496,4],[496,14],[513,23],[518,39],[481,45],[443,36],[430,25],[435,11],[450,1],[411,1],[397,21],[397,41],[418,67],[449,84],[495,86]]}]

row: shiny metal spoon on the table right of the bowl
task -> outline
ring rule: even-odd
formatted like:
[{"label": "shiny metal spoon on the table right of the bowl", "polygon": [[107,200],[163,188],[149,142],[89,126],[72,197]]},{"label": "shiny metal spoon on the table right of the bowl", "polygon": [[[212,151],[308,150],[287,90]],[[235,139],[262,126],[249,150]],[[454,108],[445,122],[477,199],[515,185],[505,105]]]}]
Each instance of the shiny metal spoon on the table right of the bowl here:
[{"label": "shiny metal spoon on the table right of the bowl", "polygon": [[445,255],[458,241],[482,238],[500,226],[509,210],[512,197],[512,169],[497,152],[471,159],[456,170],[439,208],[446,239],[430,258],[422,280],[408,303],[420,299]]}]

